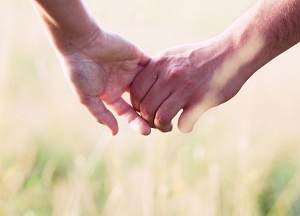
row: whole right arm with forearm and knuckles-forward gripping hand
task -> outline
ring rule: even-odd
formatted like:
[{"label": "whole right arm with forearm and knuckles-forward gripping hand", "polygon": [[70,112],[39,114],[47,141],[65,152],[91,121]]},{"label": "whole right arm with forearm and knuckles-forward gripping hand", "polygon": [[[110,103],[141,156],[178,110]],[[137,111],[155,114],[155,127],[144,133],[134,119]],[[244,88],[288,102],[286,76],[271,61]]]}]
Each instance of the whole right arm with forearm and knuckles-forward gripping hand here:
[{"label": "whole right arm with forearm and knuckles-forward gripping hand", "polygon": [[135,110],[153,128],[191,132],[208,109],[234,97],[262,66],[300,41],[300,1],[258,0],[210,40],[164,50],[131,86]]}]

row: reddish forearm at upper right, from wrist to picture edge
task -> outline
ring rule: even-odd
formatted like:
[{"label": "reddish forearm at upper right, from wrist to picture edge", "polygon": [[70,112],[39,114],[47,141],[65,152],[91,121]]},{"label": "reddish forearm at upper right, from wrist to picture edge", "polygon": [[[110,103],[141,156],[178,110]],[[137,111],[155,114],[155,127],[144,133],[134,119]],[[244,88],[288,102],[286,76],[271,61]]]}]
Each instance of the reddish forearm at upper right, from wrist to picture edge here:
[{"label": "reddish forearm at upper right, from wrist to picture edge", "polygon": [[300,40],[300,1],[259,0],[222,35],[243,81]]}]

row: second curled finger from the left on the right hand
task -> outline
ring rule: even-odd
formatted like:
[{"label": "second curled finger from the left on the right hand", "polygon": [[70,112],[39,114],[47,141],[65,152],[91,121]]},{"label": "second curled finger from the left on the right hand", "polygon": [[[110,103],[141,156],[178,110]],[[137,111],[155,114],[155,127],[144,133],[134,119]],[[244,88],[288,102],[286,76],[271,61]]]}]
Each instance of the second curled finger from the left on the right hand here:
[{"label": "second curled finger from the left on the right hand", "polygon": [[160,105],[170,96],[171,90],[163,88],[158,80],[140,103],[140,113],[151,127],[155,127],[154,118]]}]

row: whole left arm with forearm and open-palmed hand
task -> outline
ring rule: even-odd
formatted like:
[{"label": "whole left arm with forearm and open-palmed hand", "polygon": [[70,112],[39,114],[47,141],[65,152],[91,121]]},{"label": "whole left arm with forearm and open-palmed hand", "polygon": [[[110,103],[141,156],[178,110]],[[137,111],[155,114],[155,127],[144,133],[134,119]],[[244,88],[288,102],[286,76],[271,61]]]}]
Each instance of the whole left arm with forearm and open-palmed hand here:
[{"label": "whole left arm with forearm and open-palmed hand", "polygon": [[122,95],[150,58],[130,41],[101,29],[81,0],[33,3],[78,100],[113,135],[118,123],[111,111],[148,135],[149,125]]}]

